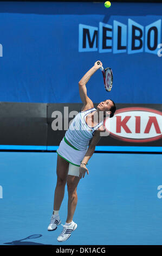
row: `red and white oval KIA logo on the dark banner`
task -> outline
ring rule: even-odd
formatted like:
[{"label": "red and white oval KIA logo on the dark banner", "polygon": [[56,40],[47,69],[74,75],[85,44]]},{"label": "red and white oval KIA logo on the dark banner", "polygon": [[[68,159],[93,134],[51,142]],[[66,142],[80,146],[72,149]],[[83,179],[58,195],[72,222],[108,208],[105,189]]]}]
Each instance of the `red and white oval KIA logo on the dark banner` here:
[{"label": "red and white oval KIA logo on the dark banner", "polygon": [[162,112],[144,107],[120,108],[104,126],[110,136],[126,142],[151,142],[162,137]]}]

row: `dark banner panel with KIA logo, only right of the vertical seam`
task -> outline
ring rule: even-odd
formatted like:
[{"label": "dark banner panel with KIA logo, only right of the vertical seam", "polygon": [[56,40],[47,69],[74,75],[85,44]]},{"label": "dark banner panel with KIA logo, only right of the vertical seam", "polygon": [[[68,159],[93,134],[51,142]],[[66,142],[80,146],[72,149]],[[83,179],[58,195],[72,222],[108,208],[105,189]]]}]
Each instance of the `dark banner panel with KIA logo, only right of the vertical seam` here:
[{"label": "dark banner panel with KIA logo, only right of the vertical seam", "polygon": [[[81,107],[77,103],[48,105],[48,149],[60,144]],[[114,117],[107,118],[104,126],[106,132],[101,134],[96,150],[162,151],[162,105],[116,104]]]}]

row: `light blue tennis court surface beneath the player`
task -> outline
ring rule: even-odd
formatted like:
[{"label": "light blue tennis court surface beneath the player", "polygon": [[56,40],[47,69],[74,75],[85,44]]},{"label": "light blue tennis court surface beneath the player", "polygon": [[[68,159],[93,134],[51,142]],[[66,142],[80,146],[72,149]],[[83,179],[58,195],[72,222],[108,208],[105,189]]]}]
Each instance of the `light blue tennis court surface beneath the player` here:
[{"label": "light blue tennis court surface beneath the player", "polygon": [[[0,245],[162,245],[161,155],[95,153],[77,189],[77,229],[62,243],[61,225],[47,231],[56,160],[56,153],[0,153]],[[67,187],[63,224],[66,215]]]}]

